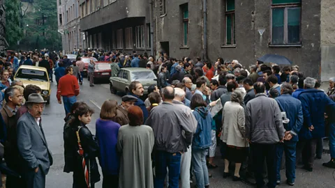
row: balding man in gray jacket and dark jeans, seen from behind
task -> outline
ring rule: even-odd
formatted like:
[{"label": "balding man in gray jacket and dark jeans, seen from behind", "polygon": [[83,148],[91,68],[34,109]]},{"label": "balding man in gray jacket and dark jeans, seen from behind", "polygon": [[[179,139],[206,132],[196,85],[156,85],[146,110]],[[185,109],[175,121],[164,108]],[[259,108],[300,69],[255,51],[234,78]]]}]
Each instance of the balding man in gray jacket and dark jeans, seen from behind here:
[{"label": "balding man in gray jacket and dark jeans, seen from behind", "polygon": [[170,187],[178,187],[181,153],[187,152],[192,143],[193,113],[173,104],[174,88],[162,89],[163,104],[151,109],[145,125],[149,125],[155,136],[156,177],[154,187],[163,188],[167,168]]}]

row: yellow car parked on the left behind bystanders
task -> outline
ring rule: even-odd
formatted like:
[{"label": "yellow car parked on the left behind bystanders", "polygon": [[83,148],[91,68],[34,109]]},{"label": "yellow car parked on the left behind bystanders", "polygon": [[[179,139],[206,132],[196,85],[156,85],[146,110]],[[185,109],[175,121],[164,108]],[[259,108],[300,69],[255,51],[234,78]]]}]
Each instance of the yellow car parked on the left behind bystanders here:
[{"label": "yellow car parked on the left behind bystanders", "polygon": [[47,74],[47,69],[31,66],[31,65],[21,65],[16,71],[14,79],[20,79],[24,86],[29,84],[36,85],[40,87],[43,99],[50,103],[50,81],[49,75]]}]

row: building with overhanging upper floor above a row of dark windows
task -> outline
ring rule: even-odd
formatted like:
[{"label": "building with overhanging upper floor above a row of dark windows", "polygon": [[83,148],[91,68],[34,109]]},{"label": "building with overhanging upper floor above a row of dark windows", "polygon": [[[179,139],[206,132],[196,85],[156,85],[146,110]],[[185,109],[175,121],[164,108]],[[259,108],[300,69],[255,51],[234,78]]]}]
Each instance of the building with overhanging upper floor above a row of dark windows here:
[{"label": "building with overhanging upper floor above a row of dark windows", "polygon": [[149,2],[80,0],[80,28],[84,32],[84,48],[150,54],[152,20]]}]

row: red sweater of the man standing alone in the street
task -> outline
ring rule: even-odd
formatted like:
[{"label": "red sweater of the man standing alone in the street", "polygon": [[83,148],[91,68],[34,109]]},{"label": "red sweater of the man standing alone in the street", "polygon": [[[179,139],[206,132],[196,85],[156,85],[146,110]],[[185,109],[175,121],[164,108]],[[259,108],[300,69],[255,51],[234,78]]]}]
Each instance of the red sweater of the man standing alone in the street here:
[{"label": "red sweater of the man standing alone in the street", "polygon": [[57,87],[57,100],[61,100],[61,96],[77,96],[79,95],[79,84],[77,78],[73,75],[65,75],[59,79]]}]

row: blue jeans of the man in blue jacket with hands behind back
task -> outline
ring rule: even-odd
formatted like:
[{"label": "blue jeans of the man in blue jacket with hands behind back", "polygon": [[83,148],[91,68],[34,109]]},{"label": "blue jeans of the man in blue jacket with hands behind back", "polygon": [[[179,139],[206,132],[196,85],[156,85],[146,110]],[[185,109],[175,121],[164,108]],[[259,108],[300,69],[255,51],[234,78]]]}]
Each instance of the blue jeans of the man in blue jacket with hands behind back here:
[{"label": "blue jeans of the man in blue jacket with hands behind back", "polygon": [[288,141],[277,145],[277,180],[281,180],[281,160],[285,151],[285,175],[289,182],[295,182],[295,149],[296,141]]}]

